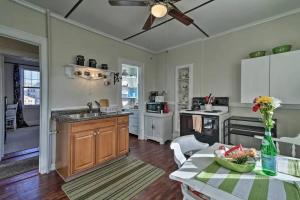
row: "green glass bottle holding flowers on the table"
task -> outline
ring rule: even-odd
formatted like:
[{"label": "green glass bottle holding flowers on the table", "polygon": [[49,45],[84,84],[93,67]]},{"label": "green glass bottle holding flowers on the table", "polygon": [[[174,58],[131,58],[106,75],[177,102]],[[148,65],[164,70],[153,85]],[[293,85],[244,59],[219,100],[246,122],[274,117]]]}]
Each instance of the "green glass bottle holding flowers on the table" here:
[{"label": "green glass bottle holding flowers on the table", "polygon": [[277,174],[277,149],[271,136],[271,131],[266,129],[261,144],[261,164],[266,175],[276,176]]}]

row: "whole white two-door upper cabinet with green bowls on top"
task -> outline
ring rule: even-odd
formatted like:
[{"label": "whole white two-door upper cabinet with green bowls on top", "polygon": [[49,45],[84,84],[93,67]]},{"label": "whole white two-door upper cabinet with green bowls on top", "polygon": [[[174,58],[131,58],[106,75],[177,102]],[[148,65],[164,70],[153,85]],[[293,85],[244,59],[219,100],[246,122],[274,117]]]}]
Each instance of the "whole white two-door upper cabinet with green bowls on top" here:
[{"label": "whole white two-door upper cabinet with green bowls on top", "polygon": [[300,104],[300,51],[242,60],[241,103],[262,95]]}]

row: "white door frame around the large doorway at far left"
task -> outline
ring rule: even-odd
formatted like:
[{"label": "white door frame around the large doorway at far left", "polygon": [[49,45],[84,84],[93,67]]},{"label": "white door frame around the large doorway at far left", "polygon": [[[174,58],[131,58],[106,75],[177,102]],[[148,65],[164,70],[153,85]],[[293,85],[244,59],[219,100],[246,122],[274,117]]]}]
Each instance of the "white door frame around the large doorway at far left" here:
[{"label": "white door frame around the large doorway at far left", "polygon": [[[40,80],[41,80],[41,105],[40,105],[40,141],[39,141],[39,172],[48,173],[50,170],[50,134],[49,134],[49,83],[48,83],[48,47],[47,38],[27,33],[15,28],[0,25],[0,36],[22,41],[39,47]],[[3,88],[0,87],[1,102],[3,101]],[[1,104],[2,105],[2,104]],[[3,108],[0,115],[4,116]],[[0,121],[3,127],[4,120]],[[1,131],[1,130],[0,130]],[[4,148],[4,132],[0,133],[0,150]],[[2,152],[3,154],[3,152]],[[1,155],[2,156],[2,155]]]}]

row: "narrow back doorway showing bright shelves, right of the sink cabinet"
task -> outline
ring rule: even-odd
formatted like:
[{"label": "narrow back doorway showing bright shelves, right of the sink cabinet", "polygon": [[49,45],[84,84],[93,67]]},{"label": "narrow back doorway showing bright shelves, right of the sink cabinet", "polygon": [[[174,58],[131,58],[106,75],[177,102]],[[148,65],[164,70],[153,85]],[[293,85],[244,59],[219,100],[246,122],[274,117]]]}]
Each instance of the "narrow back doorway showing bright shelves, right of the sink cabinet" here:
[{"label": "narrow back doorway showing bright shelves, right of the sink cabinet", "polygon": [[119,65],[122,75],[120,89],[122,109],[133,113],[129,116],[129,133],[144,139],[143,64],[120,59]]}]

